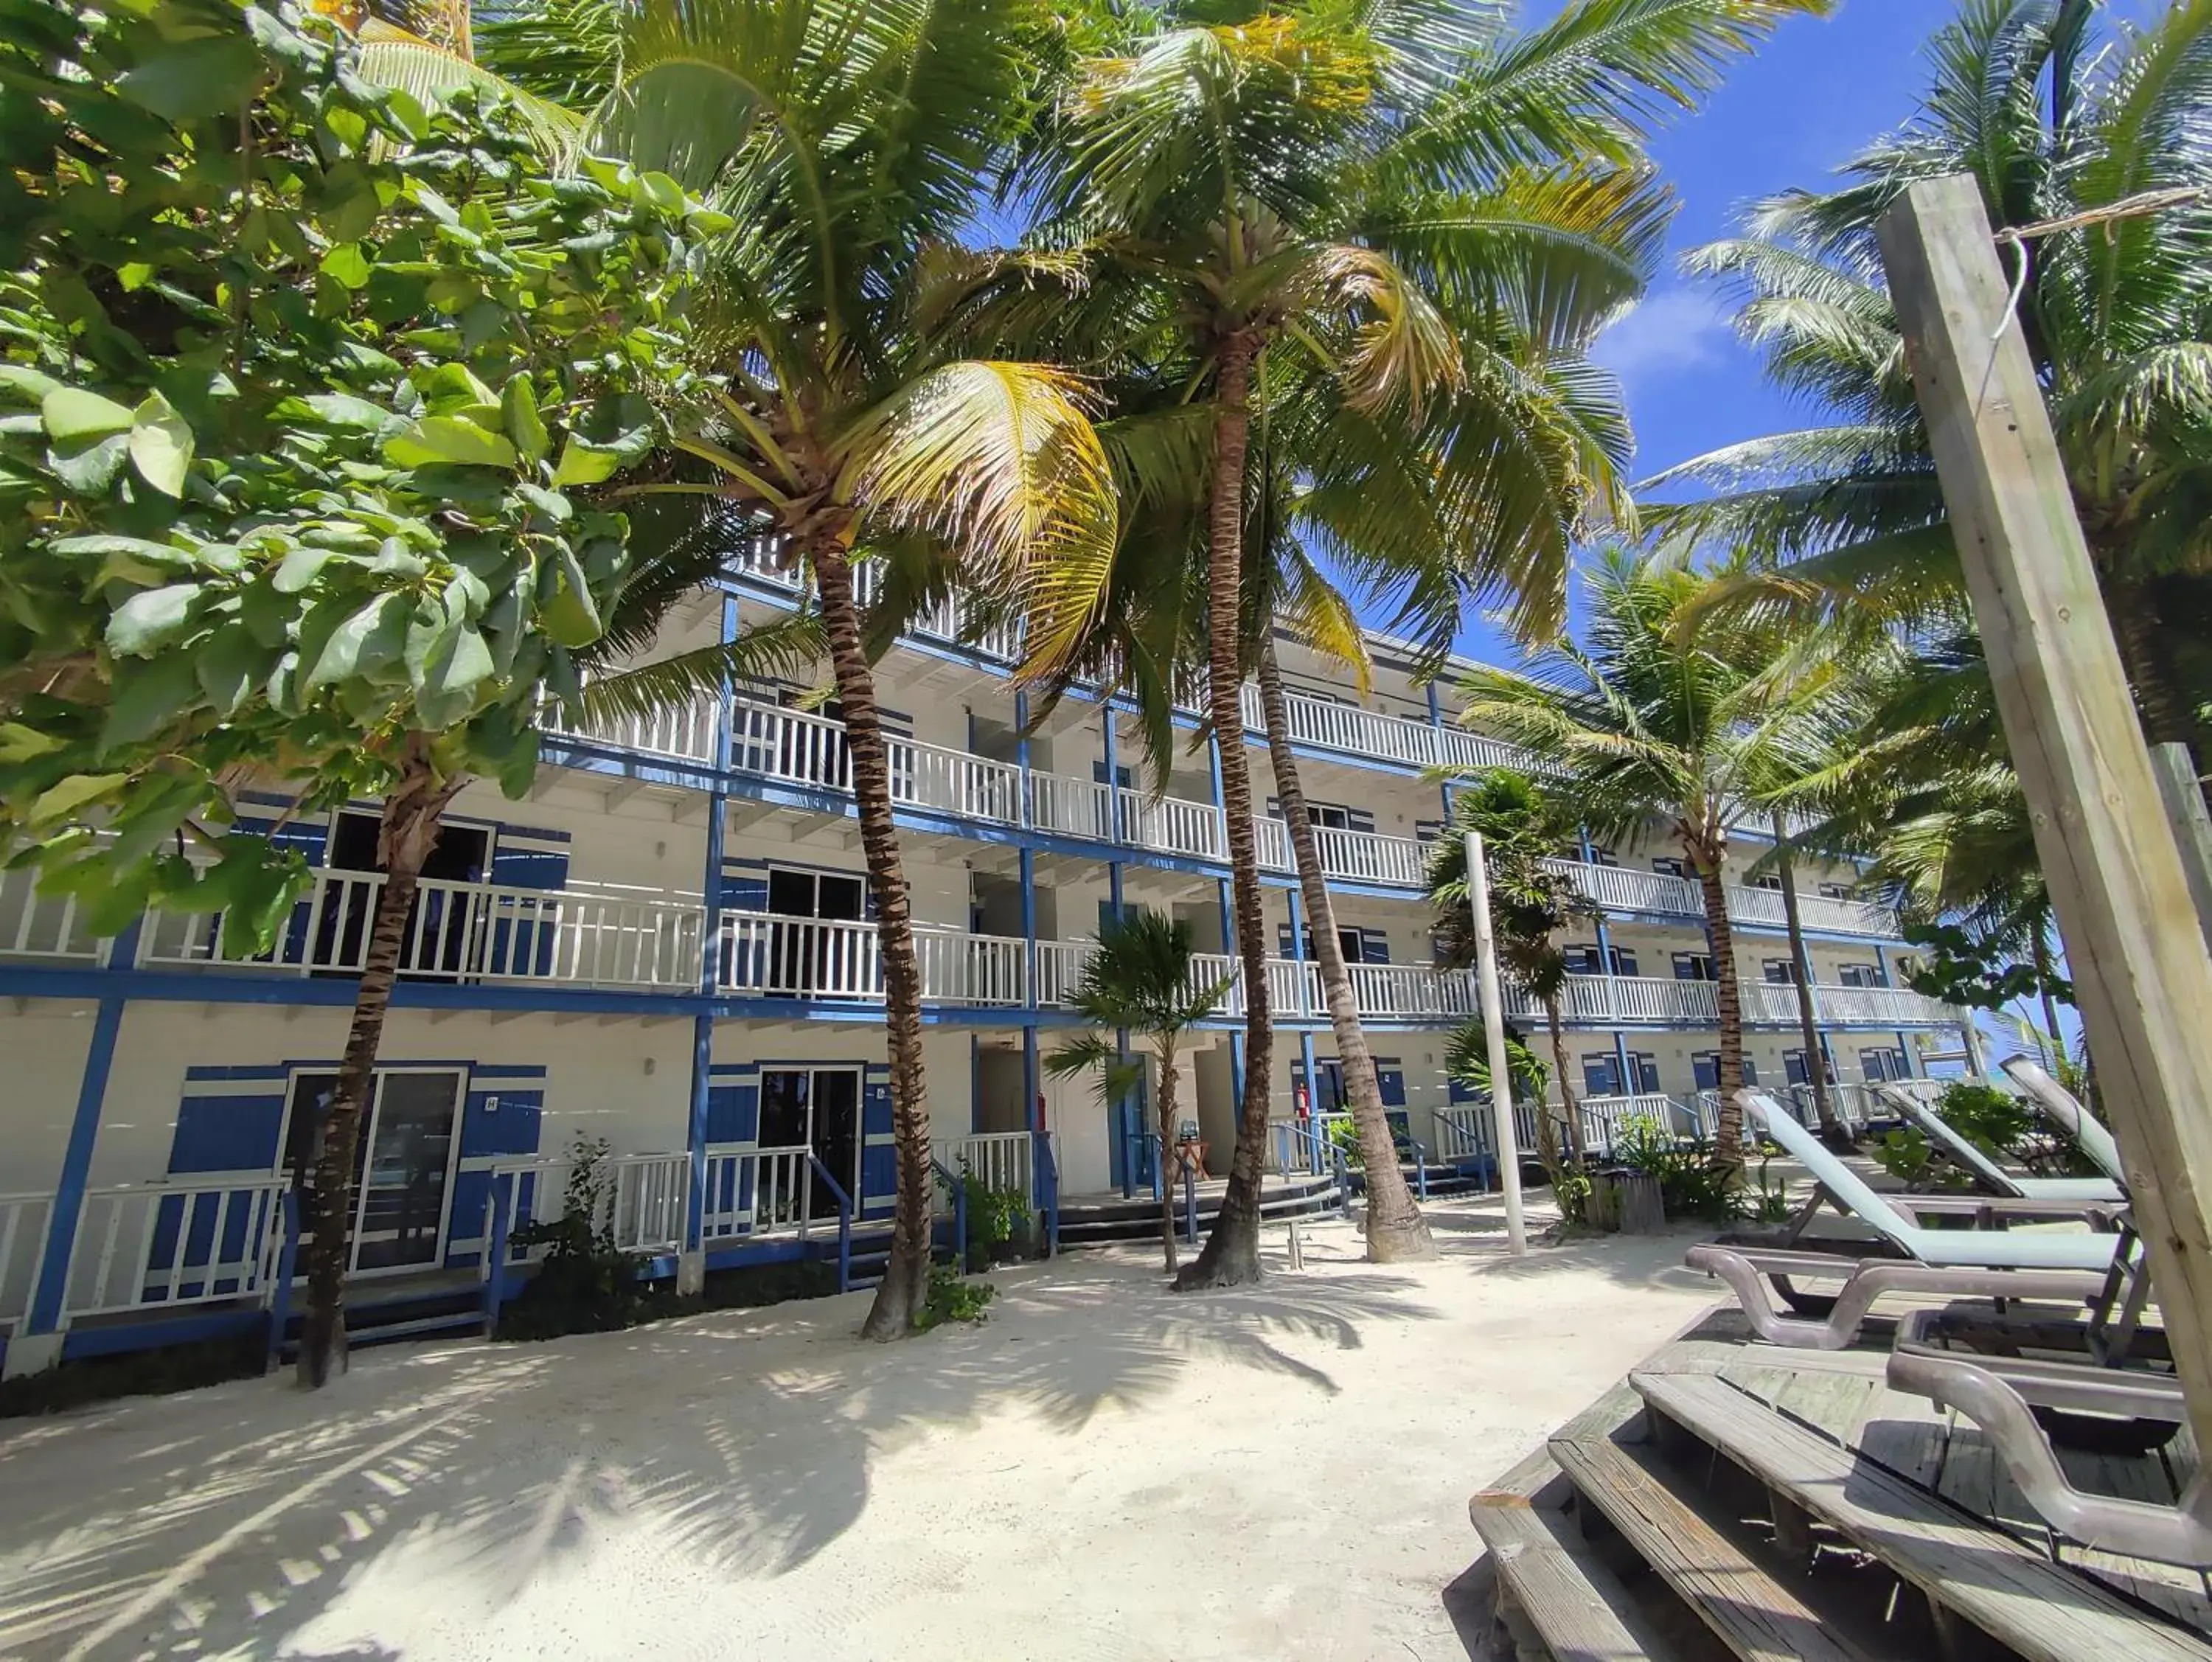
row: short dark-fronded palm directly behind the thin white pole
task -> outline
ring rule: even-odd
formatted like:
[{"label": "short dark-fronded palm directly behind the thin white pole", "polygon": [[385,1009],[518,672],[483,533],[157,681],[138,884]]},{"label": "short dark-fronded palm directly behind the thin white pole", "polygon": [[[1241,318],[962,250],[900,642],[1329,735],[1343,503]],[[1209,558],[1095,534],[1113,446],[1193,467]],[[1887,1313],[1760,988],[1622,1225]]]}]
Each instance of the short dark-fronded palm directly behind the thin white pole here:
[{"label": "short dark-fronded palm directly behind the thin white pole", "polygon": [[[1475,916],[1467,885],[1467,832],[1482,832],[1489,863],[1491,929],[1498,965],[1544,1007],[1553,1071],[1559,1080],[1559,1118],[1566,1122],[1566,1164],[1582,1166],[1582,1109],[1566,1062],[1566,949],[1559,932],[1590,912],[1571,876],[1546,859],[1577,834],[1573,810],[1535,779],[1513,768],[1489,768],[1451,799],[1451,821],[1429,852],[1429,901],[1436,905],[1436,963],[1464,969],[1475,963]],[[1480,1027],[1480,1022],[1478,1022]],[[1537,1098],[1542,1104],[1542,1095]],[[1557,1188],[1559,1153],[1551,1115],[1537,1111],[1540,1153]]]}]

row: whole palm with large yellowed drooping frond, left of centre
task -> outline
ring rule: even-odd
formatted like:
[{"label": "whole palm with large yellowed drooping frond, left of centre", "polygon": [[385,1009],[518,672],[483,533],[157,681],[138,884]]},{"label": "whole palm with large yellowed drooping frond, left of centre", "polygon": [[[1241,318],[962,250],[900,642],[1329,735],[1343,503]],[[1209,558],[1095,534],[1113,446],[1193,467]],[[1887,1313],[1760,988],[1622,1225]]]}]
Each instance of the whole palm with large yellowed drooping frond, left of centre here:
[{"label": "whole palm with large yellowed drooping frond, left of centre", "polygon": [[[1117,505],[1077,383],[964,359],[933,330],[960,281],[947,250],[1022,137],[1057,31],[1026,0],[571,9],[591,24],[575,51],[535,58],[522,38],[498,66],[542,95],[604,91],[595,150],[737,221],[695,308],[714,389],[679,440],[690,471],[633,500],[690,498],[765,536],[816,598],[876,903],[898,1155],[891,1255],[863,1332],[894,1339],[929,1279],[929,1091],[867,651],[896,629],[869,629],[860,569],[953,562],[1031,615],[1037,666],[1082,633],[1104,584]],[[566,38],[560,18],[540,27]]]}]

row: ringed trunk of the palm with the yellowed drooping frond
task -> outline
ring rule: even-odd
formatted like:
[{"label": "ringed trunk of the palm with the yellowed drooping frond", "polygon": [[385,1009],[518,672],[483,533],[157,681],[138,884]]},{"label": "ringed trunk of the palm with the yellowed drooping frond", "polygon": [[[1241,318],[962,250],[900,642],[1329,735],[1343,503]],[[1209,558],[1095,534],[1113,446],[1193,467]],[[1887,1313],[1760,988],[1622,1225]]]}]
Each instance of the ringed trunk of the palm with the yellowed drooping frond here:
[{"label": "ringed trunk of the palm with the yellowed drooping frond", "polygon": [[[816,547],[814,584],[821,593],[830,671],[843,708],[845,748],[852,755],[852,794],[860,812],[860,852],[876,901],[876,952],[883,958],[883,1027],[891,1053],[891,1146],[896,1204],[891,1257],[876,1301],[860,1323],[863,1339],[905,1339],[929,1301],[929,1080],[922,1073],[922,969],[914,956],[914,912],[907,868],[891,823],[891,761],[876,710],[876,675],[860,648],[860,611],[852,593],[852,564],[841,544]],[[854,1206],[860,1197],[854,1195]]]}]

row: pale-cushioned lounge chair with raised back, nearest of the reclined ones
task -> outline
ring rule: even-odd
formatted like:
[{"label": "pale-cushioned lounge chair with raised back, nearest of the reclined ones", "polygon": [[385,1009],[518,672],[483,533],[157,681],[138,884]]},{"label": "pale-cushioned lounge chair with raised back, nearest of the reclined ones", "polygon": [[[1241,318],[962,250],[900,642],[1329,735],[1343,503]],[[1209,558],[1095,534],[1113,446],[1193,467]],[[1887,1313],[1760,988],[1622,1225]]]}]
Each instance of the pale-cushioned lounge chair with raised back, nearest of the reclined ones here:
[{"label": "pale-cushioned lounge chair with raised back, nearest of the reclined ones", "polygon": [[[1834,1253],[1767,1246],[1692,1246],[1688,1264],[1694,1270],[1728,1281],[1743,1315],[1767,1343],[1843,1350],[1858,1337],[1867,1310],[1889,1292],[1951,1295],[1980,1299],[2057,1299],[2081,1308],[2097,1299],[2110,1279],[2119,1235],[2081,1233],[2008,1233],[1924,1228],[1916,1213],[1942,1213],[1931,1206],[1940,1195],[1878,1195],[1856,1171],[1836,1157],[1812,1131],[1801,1126],[1763,1091],[1741,1091],[1745,1122],[1759,1124],[1805,1171],[1838,1211],[1867,1224],[1889,1257],[1849,1259]],[[2084,1217],[2081,1208],[2059,1202],[1995,1202],[1997,1208],[2033,1217]],[[1986,1208],[1986,1206],[1984,1206]],[[2104,1211],[2090,1206],[2090,1219]],[[1794,1301],[1790,1277],[1843,1279],[1843,1290],[1825,1317],[1783,1315],[1770,1286]]]}]

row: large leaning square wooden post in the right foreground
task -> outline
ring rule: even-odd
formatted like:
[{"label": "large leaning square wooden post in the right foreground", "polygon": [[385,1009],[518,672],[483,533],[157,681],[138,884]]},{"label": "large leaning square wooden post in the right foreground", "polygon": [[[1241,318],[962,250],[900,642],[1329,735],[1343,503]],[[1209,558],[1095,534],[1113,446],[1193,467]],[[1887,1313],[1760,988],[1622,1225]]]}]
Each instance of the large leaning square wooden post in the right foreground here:
[{"label": "large leaning square wooden post in the right foreground", "polygon": [[1882,215],[1880,241],[2097,1087],[2205,1445],[2212,956],[2188,927],[2181,854],[1973,179],[1913,184]]}]

